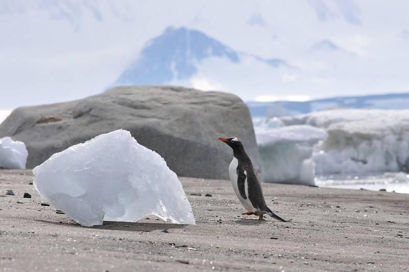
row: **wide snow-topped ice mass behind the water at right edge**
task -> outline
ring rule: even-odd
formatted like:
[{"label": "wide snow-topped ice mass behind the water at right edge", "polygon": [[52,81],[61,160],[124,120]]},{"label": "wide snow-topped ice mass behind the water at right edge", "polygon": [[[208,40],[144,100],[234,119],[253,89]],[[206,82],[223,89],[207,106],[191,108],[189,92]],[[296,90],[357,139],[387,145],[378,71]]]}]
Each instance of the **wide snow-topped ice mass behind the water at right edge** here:
[{"label": "wide snow-topped ice mass behind the water at right edge", "polygon": [[319,175],[409,171],[408,110],[328,110],[282,120],[326,130],[313,155]]}]

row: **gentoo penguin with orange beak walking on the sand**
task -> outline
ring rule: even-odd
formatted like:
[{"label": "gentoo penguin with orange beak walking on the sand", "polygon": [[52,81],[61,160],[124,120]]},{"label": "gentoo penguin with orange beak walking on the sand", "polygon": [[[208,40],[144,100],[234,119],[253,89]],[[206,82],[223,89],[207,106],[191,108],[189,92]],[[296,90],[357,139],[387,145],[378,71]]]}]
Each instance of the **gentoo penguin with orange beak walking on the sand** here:
[{"label": "gentoo penguin with orange beak walking on the sand", "polygon": [[264,214],[272,218],[287,222],[271,212],[265,204],[260,181],[254,171],[252,161],[244,151],[243,144],[237,138],[219,138],[233,149],[233,160],[229,166],[229,176],[234,192],[247,212],[243,215],[258,215],[263,219]]}]

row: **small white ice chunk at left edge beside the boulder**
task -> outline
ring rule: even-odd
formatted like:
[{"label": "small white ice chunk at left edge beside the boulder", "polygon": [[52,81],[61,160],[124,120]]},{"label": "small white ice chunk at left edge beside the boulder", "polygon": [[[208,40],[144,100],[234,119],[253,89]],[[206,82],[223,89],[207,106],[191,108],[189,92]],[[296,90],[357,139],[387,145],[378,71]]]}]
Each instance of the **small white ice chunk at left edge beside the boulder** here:
[{"label": "small white ice chunk at left edge beside the boulder", "polygon": [[26,144],[10,137],[0,138],[0,168],[26,169],[29,153]]}]

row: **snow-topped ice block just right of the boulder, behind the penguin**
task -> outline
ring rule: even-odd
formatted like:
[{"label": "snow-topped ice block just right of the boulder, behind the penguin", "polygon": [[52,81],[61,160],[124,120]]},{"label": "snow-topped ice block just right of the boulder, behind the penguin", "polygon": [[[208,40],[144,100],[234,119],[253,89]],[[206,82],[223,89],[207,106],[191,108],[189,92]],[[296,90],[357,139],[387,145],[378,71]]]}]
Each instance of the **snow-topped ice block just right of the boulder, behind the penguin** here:
[{"label": "snow-topped ice block just right of the boulder, behind the penguin", "polygon": [[314,184],[313,144],[326,137],[310,125],[273,127],[277,120],[255,127],[265,182]]}]

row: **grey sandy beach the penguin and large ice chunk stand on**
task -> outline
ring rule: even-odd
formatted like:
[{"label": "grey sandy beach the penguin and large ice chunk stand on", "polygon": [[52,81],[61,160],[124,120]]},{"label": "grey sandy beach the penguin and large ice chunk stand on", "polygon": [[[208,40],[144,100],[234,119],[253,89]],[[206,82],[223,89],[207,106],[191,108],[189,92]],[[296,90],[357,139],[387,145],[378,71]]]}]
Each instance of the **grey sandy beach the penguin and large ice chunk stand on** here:
[{"label": "grey sandy beach the penguin and large ice chunk stand on", "polygon": [[197,225],[149,216],[89,228],[41,206],[32,179],[0,171],[1,271],[409,271],[405,194],[263,184],[282,223],[242,216],[230,181],[181,178]]}]

